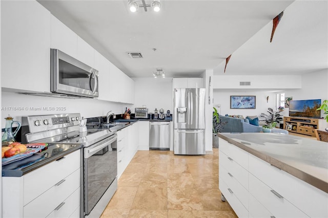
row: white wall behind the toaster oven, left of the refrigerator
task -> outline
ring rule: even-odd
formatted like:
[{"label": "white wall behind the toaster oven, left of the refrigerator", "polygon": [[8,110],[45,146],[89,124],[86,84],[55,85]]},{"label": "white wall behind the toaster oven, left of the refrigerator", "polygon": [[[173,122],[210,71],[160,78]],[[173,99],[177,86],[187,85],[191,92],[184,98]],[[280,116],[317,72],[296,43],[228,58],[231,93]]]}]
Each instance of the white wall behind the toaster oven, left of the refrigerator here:
[{"label": "white wall behind the toaster oven, left of the refrigerator", "polygon": [[[164,113],[173,113],[173,79],[172,78],[132,78],[135,83],[134,107],[146,105],[148,113],[163,108]],[[134,113],[134,107],[131,108]]]}]

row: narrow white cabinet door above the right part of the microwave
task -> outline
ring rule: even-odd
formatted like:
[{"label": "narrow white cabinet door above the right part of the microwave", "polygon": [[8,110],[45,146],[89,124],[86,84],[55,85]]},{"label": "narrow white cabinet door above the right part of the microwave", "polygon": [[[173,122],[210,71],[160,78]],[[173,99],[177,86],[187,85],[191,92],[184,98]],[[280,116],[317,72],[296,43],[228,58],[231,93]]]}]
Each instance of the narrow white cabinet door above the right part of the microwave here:
[{"label": "narrow white cabinet door above the right part of the microwave", "polygon": [[79,36],[77,36],[77,59],[92,68],[94,66],[94,49]]}]

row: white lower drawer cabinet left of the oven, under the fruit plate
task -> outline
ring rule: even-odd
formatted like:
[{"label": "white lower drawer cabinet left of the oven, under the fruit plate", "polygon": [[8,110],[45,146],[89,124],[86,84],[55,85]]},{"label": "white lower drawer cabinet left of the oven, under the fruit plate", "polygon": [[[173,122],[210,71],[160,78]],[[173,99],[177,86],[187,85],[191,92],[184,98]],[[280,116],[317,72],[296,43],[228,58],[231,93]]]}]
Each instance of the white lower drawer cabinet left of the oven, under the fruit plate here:
[{"label": "white lower drawer cabinet left of the oven, under the fruit plate", "polygon": [[79,217],[80,152],[22,177],[3,177],[3,217]]}]

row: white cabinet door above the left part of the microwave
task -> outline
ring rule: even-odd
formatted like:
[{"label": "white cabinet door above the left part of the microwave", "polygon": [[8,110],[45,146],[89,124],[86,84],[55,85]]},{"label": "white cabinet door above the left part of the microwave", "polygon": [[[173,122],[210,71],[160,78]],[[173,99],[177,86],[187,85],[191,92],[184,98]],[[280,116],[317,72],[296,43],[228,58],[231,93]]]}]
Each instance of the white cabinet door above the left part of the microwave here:
[{"label": "white cabinet door above the left part of the microwave", "polygon": [[52,49],[60,51],[77,58],[77,35],[59,19],[51,15],[50,45]]}]

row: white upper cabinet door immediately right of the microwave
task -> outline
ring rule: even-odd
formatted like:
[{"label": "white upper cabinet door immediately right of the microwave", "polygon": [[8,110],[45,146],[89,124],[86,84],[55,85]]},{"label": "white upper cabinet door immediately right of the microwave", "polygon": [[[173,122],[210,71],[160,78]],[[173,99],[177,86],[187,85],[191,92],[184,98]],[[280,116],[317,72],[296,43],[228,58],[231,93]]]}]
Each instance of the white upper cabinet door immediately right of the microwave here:
[{"label": "white upper cabinet door immediately right of the microwave", "polygon": [[99,72],[99,97],[100,100],[112,101],[111,95],[115,94],[110,91],[110,70],[109,70],[110,62],[99,52],[94,52],[94,68]]}]

